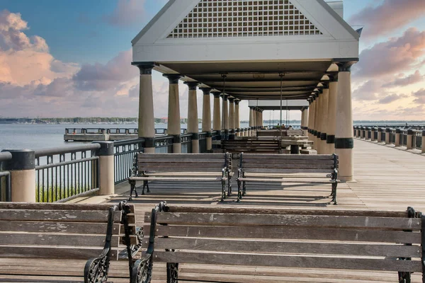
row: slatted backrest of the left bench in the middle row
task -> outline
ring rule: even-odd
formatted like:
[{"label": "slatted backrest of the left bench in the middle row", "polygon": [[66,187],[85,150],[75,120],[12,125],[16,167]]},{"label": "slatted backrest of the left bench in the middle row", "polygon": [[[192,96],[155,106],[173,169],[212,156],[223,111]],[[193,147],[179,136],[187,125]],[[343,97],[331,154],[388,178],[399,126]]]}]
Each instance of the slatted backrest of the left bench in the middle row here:
[{"label": "slatted backrest of the left bench in the middle row", "polygon": [[229,166],[229,154],[137,154],[140,173],[222,172]]}]

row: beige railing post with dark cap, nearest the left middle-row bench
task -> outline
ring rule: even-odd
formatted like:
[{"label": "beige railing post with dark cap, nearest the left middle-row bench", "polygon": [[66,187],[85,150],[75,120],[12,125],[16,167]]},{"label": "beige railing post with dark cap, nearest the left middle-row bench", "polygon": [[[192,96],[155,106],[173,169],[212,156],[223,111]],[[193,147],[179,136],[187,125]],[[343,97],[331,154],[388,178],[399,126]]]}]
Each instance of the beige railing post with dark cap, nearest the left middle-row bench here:
[{"label": "beige railing post with dark cap, nearest the left middle-row bench", "polygon": [[101,145],[96,152],[99,156],[99,195],[113,195],[115,193],[113,141],[93,141],[93,144]]}]

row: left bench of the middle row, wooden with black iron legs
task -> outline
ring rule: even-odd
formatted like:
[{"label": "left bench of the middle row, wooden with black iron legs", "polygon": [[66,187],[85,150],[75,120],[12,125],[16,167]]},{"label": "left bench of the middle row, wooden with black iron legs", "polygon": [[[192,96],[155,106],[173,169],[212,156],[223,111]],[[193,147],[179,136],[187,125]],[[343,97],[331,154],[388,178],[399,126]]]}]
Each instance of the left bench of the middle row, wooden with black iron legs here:
[{"label": "left bench of the middle row, wooden with black iron legs", "polygon": [[230,154],[137,154],[128,178],[132,192],[138,197],[136,182],[143,181],[142,195],[145,187],[149,190],[149,181],[168,182],[220,182],[222,184],[221,200],[232,193],[232,158]]}]

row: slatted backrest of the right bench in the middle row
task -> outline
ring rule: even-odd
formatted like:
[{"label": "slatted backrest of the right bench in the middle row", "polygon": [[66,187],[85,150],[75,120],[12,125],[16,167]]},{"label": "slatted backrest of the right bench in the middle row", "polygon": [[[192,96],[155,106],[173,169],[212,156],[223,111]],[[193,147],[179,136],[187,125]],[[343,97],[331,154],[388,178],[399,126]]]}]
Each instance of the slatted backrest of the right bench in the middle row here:
[{"label": "slatted backrest of the right bench in the middle row", "polygon": [[239,168],[245,173],[334,173],[336,154],[240,154]]}]

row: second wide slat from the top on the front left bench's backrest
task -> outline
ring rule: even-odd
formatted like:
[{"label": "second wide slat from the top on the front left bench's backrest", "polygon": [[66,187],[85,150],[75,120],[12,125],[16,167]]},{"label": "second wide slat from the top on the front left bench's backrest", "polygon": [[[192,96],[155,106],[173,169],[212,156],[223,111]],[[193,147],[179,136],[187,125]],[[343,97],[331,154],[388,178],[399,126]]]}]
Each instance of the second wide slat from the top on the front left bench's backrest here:
[{"label": "second wide slat from the top on the front left bench's backrest", "polygon": [[[45,221],[0,221],[0,231],[50,232],[50,233],[100,233],[105,235],[106,223],[45,222]],[[114,235],[120,224],[113,224]]]}]

